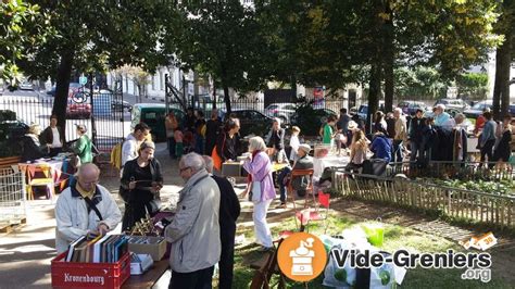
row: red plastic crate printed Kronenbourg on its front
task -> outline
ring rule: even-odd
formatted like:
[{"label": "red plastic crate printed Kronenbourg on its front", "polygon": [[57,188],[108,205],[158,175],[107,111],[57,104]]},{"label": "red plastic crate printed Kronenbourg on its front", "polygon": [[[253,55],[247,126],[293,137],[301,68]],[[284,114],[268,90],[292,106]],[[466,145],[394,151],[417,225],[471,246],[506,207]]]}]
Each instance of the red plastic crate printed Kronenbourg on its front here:
[{"label": "red plastic crate printed Kronenbourg on its front", "polygon": [[53,288],[121,288],[130,277],[130,254],[116,263],[64,262],[67,251],[52,260]]}]

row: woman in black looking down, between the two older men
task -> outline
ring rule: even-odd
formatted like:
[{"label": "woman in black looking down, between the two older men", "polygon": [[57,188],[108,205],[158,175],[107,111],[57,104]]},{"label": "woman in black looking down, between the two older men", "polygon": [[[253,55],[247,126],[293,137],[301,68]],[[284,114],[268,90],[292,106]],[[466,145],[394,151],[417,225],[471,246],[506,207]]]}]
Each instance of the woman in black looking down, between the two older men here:
[{"label": "woman in black looking down, between the two older men", "polygon": [[147,213],[152,216],[159,211],[163,176],[159,161],[153,158],[154,151],[154,143],[143,142],[138,151],[139,156],[124,165],[120,188],[125,201],[123,230],[130,231]]}]

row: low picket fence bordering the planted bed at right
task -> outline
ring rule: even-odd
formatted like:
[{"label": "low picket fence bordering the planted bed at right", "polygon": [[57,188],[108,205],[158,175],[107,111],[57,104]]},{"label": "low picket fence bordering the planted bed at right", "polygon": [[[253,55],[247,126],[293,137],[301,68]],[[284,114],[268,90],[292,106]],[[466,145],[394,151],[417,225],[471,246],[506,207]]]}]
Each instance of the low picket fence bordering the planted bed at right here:
[{"label": "low picket fence bordering the planted bed at right", "polygon": [[391,203],[445,216],[515,228],[515,197],[464,190],[404,178],[334,173],[334,187],[343,196]]}]

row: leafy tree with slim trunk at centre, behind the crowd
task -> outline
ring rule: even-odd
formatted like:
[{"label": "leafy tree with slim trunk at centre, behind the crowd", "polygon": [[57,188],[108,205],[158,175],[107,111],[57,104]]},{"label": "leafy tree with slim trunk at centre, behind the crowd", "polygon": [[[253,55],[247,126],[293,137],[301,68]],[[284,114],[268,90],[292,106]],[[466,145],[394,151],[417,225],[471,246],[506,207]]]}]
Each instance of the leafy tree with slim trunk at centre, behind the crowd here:
[{"label": "leafy tree with slim trunk at centre, behind the crowd", "polygon": [[177,65],[211,75],[216,87],[224,89],[230,112],[229,88],[262,88],[256,73],[261,55],[260,35],[254,12],[237,0],[185,2],[180,36],[169,38],[165,47],[176,48]]}]

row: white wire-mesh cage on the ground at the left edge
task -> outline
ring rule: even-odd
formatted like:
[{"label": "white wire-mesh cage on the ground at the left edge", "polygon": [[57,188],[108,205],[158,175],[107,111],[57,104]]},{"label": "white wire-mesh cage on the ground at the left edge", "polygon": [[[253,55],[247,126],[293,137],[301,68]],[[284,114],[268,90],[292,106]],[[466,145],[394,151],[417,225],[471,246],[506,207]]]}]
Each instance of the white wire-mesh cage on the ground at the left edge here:
[{"label": "white wire-mesh cage on the ground at the left edge", "polygon": [[25,177],[17,169],[0,168],[0,230],[26,222]]}]

